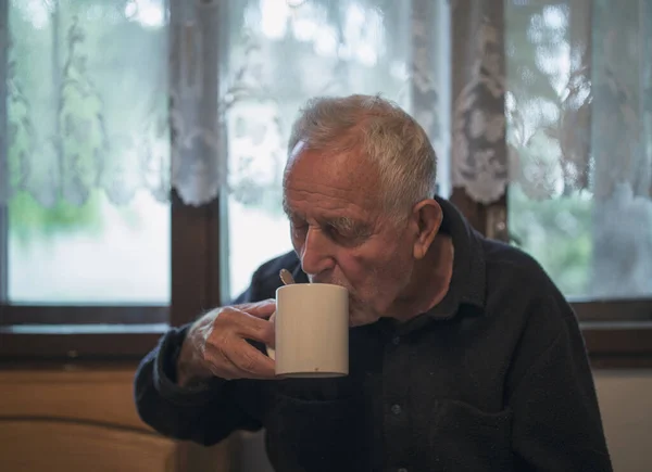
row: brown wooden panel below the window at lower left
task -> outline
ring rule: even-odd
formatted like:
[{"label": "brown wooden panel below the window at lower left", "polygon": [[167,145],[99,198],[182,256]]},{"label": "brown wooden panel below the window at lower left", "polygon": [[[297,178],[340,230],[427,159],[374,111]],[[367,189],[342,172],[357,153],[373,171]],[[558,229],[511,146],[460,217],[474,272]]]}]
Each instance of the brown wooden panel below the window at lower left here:
[{"label": "brown wooden panel below the window at lower left", "polygon": [[0,370],[0,471],[224,471],[228,444],[203,448],[138,418],[135,366]]}]

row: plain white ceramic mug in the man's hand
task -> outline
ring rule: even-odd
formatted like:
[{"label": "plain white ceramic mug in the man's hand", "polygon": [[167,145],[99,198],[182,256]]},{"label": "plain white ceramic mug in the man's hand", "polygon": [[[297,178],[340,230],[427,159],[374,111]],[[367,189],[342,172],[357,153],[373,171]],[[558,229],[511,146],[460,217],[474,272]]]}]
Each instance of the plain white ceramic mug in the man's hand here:
[{"label": "plain white ceramic mug in the man's hand", "polygon": [[328,283],[276,290],[276,375],[325,378],[349,373],[349,291]]}]

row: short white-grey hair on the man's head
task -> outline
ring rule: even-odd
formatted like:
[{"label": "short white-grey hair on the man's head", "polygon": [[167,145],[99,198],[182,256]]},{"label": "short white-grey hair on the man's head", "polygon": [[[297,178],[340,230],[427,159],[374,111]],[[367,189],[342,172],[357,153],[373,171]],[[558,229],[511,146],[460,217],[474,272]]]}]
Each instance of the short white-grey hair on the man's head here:
[{"label": "short white-grey hair on the man's head", "polygon": [[376,166],[385,209],[404,215],[436,191],[437,156],[426,131],[380,95],[317,97],[300,110],[288,143],[329,154],[362,152]]}]

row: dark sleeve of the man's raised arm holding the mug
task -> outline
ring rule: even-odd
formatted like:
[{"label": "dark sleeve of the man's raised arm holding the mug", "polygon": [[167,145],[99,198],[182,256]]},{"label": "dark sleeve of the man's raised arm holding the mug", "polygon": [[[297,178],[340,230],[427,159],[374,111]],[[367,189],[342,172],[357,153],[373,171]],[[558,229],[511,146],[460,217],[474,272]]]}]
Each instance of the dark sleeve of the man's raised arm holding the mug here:
[{"label": "dark sleeve of the man's raised arm holding the mug", "polygon": [[[234,304],[249,301],[250,292]],[[261,429],[234,399],[233,387],[238,381],[212,378],[188,386],[176,383],[176,361],[189,328],[171,329],[138,366],[134,397],[140,419],[165,436],[206,446],[236,430]]]}]

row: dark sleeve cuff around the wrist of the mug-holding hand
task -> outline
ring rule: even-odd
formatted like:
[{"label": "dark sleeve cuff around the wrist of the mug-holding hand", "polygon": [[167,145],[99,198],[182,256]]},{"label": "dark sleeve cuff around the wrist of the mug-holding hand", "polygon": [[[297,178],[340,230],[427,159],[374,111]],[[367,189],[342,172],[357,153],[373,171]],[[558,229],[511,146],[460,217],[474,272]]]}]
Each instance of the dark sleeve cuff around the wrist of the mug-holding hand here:
[{"label": "dark sleeve cuff around the wrist of the mug-holding hand", "polygon": [[190,324],[172,328],[160,341],[154,359],[154,386],[162,397],[177,405],[201,405],[215,397],[227,381],[211,378],[192,385],[176,383],[176,362]]}]

